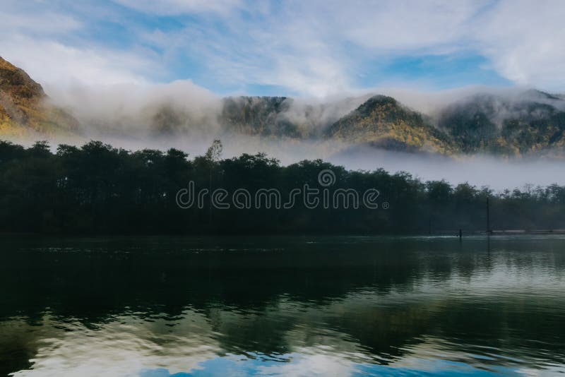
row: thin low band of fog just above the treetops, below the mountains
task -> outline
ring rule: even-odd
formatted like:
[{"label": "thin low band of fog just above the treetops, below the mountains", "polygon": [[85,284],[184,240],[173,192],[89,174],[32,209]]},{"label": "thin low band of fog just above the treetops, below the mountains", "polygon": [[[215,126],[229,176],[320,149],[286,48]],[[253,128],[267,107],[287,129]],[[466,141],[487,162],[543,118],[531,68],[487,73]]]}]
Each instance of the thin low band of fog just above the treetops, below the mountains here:
[{"label": "thin low band of fog just above the treetops, below the mountains", "polygon": [[[203,155],[213,141],[212,138],[201,140],[98,138],[98,140],[127,150],[177,148],[189,153],[189,158]],[[445,179],[453,185],[468,182],[478,188],[489,186],[495,191],[503,191],[506,188],[523,188],[526,184],[565,185],[564,161],[547,158],[507,159],[486,155],[442,157],[333,142],[273,141],[244,136],[222,138],[221,140],[222,158],[235,157],[242,153],[265,152],[268,157],[277,158],[283,165],[321,158],[351,170],[375,170],[382,167],[391,173],[409,172],[422,181]],[[66,140],[67,143],[76,145],[81,145],[86,141],[88,140]],[[56,144],[54,140],[51,143],[53,146]]]}]

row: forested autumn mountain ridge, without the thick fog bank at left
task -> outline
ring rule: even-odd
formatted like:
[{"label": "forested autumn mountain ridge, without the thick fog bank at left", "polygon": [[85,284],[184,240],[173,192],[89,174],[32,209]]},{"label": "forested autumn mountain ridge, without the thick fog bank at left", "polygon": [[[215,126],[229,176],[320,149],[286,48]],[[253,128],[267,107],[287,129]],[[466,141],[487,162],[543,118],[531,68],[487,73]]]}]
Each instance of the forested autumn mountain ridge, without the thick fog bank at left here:
[{"label": "forested autumn mountain ridge, without the thick fog bank at left", "polygon": [[[191,118],[186,109],[162,100],[152,105],[155,110],[148,112],[153,114],[148,117],[152,137],[174,137],[194,126],[213,128],[199,119],[215,119],[219,137],[335,140],[439,155],[565,155],[565,97],[540,90],[475,93],[440,107],[434,116],[386,95],[319,104],[292,97],[223,97],[216,115],[208,118]],[[0,57],[0,138],[79,135],[86,127],[82,126],[52,104],[25,71]]]}]

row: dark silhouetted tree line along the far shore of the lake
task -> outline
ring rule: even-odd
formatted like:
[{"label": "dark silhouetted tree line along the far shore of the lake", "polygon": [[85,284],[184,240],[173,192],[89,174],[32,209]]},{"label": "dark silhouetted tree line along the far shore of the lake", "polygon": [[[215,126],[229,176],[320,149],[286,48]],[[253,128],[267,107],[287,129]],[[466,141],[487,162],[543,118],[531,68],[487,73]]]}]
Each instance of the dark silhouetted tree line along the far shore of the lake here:
[{"label": "dark silhouetted tree line along the far shore of the lake", "polygon": [[[47,234],[407,234],[491,229],[565,229],[565,186],[525,186],[494,192],[468,183],[421,181],[406,172],[351,171],[322,160],[288,166],[263,153],[221,158],[215,140],[203,156],[182,150],[131,152],[100,141],[81,147],[47,142],[29,148],[0,141],[0,232]],[[321,171],[335,182],[328,190],[379,191],[378,208],[342,205],[311,208],[182,208],[179,190],[193,182],[208,193],[320,185]],[[323,190],[320,191],[323,200]]]}]

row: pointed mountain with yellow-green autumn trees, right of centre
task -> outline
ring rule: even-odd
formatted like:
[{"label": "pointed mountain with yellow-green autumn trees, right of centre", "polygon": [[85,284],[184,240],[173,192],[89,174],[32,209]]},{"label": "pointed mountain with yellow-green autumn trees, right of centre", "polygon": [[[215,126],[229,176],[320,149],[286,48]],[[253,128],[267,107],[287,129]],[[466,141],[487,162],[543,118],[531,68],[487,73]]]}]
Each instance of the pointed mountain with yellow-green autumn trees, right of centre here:
[{"label": "pointed mountain with yellow-green autumn trees, right of centre", "polygon": [[448,154],[454,150],[450,138],[429,124],[422,114],[383,95],[369,98],[343,116],[326,129],[325,136],[404,152]]}]

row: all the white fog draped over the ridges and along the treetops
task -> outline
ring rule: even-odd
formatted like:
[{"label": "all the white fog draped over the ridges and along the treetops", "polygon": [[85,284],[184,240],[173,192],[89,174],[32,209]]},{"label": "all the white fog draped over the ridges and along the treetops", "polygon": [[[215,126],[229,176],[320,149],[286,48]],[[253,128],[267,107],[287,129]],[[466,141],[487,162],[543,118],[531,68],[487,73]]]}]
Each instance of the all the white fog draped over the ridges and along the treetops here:
[{"label": "all the white fog draped over the ridges and along the treetops", "polygon": [[[221,98],[190,81],[178,81],[148,88],[131,85],[101,88],[57,88],[47,86],[52,101],[76,116],[83,128],[83,137],[52,140],[81,144],[90,139],[102,140],[114,147],[128,150],[178,148],[190,157],[203,155],[220,132],[218,114]],[[408,90],[379,89],[396,97],[407,106],[433,117],[440,106],[461,100],[473,93],[491,92],[511,98],[524,88],[489,89],[463,88],[445,92],[422,93]],[[370,97],[369,92],[357,92],[324,100],[297,99],[285,116],[311,127],[323,127],[355,109]],[[535,95],[535,93],[534,93]],[[523,95],[521,94],[521,98]],[[182,135],[155,136],[150,124],[163,108],[180,117]],[[222,157],[266,152],[282,164],[304,159],[321,158],[347,169],[374,170],[382,167],[388,172],[405,171],[422,181],[446,179],[452,184],[468,181],[475,186],[490,186],[495,190],[523,187],[525,184],[546,186],[565,185],[565,164],[559,160],[503,157],[465,156],[439,157],[412,155],[374,148],[344,145],[333,141],[276,140],[254,136],[219,136],[224,146]]]}]

